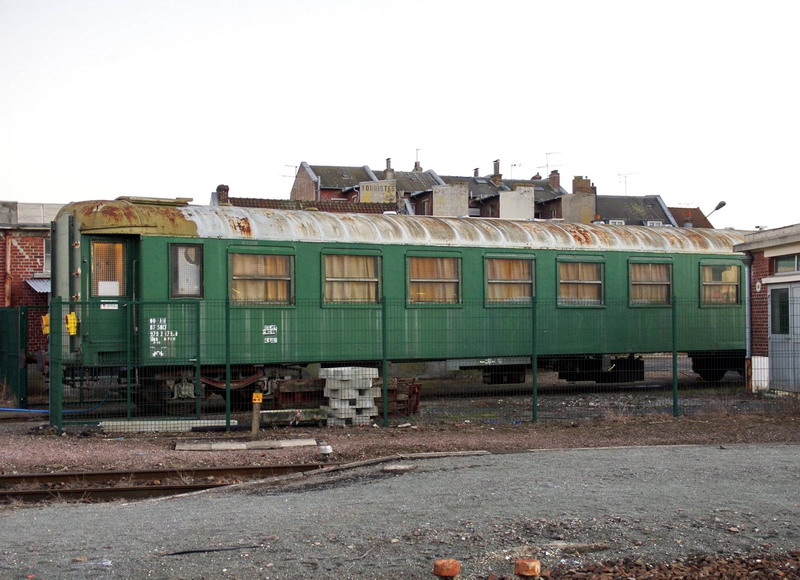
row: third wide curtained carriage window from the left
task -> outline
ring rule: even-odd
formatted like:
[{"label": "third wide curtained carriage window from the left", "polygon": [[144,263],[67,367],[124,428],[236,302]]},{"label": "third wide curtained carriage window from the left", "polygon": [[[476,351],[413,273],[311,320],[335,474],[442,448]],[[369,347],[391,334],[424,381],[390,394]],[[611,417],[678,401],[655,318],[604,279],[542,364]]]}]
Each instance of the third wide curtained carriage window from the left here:
[{"label": "third wide curtained carriage window from the left", "polygon": [[458,304],[459,258],[408,258],[408,301],[411,304]]}]

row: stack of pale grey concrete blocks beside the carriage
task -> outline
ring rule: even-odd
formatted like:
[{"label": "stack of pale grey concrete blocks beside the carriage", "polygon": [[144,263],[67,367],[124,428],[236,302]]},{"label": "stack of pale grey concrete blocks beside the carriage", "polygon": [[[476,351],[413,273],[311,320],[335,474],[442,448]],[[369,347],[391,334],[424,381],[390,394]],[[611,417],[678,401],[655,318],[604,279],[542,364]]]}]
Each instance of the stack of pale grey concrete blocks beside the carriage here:
[{"label": "stack of pale grey concrete blocks beside the carriage", "polygon": [[371,425],[378,416],[375,397],[381,394],[380,387],[373,387],[378,369],[361,367],[337,367],[321,369],[319,377],[325,379],[324,395],[328,404],[322,410],[328,413],[328,427],[345,425]]}]

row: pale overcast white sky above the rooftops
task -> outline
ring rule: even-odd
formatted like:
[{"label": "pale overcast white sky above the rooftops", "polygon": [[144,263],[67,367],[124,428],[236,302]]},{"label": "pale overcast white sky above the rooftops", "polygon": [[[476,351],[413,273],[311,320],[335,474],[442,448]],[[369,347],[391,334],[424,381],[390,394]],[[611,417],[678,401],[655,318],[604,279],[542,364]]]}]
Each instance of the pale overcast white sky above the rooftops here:
[{"label": "pale overcast white sky above the rooftops", "polygon": [[[0,0],[0,199],[287,198],[296,166],[800,222],[786,1]],[[549,155],[548,155],[549,154]]]}]

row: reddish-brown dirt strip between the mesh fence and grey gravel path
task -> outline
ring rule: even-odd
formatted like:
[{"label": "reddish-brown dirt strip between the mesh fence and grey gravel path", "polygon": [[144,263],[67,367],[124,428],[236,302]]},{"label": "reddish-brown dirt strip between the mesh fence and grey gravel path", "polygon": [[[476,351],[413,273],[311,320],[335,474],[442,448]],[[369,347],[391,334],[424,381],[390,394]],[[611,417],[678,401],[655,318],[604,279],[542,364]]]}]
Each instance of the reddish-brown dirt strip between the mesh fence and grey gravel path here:
[{"label": "reddish-brown dirt strip between the mesh fence and grey gravel path", "polygon": [[[331,461],[438,451],[800,443],[800,413],[651,415],[585,421],[531,423],[460,422],[409,427],[306,428],[262,430],[258,439],[325,441]],[[320,460],[316,446],[274,450],[176,451],[177,440],[242,440],[249,432],[104,433],[73,426],[62,435],[41,420],[0,422],[0,473],[97,471],[145,468],[271,465]]]}]

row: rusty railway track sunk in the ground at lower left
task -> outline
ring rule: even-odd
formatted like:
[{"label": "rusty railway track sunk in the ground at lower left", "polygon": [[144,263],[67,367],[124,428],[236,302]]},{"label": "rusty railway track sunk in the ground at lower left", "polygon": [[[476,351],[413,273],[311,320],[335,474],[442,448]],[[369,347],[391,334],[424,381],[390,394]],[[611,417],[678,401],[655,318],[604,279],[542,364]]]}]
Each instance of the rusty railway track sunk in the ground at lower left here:
[{"label": "rusty railway track sunk in the ground at lower left", "polygon": [[7,474],[0,475],[0,502],[144,499],[223,487],[249,479],[304,473],[330,465],[334,464]]}]

